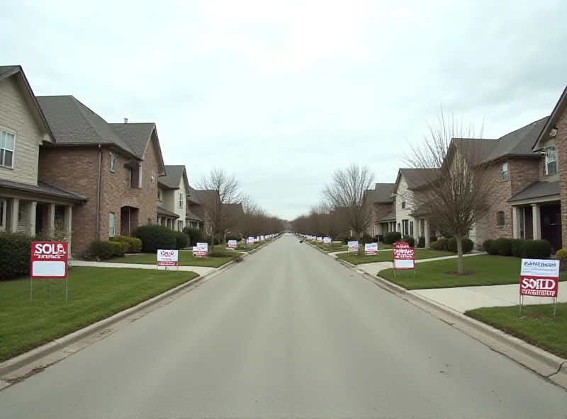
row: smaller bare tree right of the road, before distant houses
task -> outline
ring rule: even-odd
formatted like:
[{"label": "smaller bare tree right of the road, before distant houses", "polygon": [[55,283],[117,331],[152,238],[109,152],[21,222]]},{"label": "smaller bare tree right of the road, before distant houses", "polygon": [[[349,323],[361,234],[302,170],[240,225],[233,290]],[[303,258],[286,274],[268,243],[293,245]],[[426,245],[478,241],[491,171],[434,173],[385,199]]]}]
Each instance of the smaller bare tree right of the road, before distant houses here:
[{"label": "smaller bare tree right of the road, before distant houses", "polygon": [[323,196],[327,205],[342,216],[354,231],[357,241],[372,223],[372,204],[367,196],[374,181],[374,173],[368,166],[352,163],[332,173],[332,182],[325,186]]}]

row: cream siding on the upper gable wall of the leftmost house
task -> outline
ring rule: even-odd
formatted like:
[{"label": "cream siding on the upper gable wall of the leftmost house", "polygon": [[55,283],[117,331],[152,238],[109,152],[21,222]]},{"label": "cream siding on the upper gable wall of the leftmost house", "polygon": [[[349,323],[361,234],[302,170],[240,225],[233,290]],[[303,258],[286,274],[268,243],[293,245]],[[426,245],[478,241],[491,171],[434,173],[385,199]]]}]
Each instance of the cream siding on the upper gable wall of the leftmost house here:
[{"label": "cream siding on the upper gable wall of the leftmost house", "polygon": [[44,134],[33,119],[14,76],[0,81],[0,130],[16,134],[13,168],[0,166],[0,179],[38,185],[39,146]]}]

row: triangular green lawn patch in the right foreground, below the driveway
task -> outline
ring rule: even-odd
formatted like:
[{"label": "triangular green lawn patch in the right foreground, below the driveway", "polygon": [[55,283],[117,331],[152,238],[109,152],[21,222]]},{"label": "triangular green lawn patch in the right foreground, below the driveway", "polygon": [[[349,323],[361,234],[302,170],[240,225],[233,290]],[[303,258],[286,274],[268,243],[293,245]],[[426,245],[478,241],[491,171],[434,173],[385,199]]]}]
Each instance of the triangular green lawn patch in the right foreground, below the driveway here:
[{"label": "triangular green lawn patch in the right foreground, below the driveway", "polygon": [[541,304],[524,306],[522,316],[518,315],[518,306],[475,309],[465,314],[567,358],[567,303],[557,304],[556,318],[553,312],[553,304]]}]

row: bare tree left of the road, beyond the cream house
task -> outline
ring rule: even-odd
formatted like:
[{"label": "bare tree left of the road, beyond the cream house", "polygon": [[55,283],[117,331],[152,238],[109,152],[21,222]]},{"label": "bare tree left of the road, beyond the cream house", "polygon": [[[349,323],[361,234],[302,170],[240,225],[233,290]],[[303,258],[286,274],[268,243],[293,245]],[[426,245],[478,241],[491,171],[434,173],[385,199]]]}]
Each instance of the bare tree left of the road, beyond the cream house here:
[{"label": "bare tree left of the road, beyond the cream house", "polygon": [[240,182],[223,169],[213,168],[208,175],[203,176],[198,189],[196,192],[211,240],[214,236],[219,236],[225,243],[226,233],[237,228],[243,214],[244,195],[240,191]]}]

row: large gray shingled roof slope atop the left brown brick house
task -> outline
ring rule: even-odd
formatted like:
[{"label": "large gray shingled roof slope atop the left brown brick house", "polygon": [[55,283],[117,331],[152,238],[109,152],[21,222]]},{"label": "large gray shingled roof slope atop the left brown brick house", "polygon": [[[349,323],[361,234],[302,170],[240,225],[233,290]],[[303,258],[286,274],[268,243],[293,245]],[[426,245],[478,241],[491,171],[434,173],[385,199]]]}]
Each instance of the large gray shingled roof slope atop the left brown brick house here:
[{"label": "large gray shingled roof slope atop the left brown brick house", "polygon": [[108,122],[74,96],[38,96],[38,103],[58,144],[108,144],[137,156]]}]

